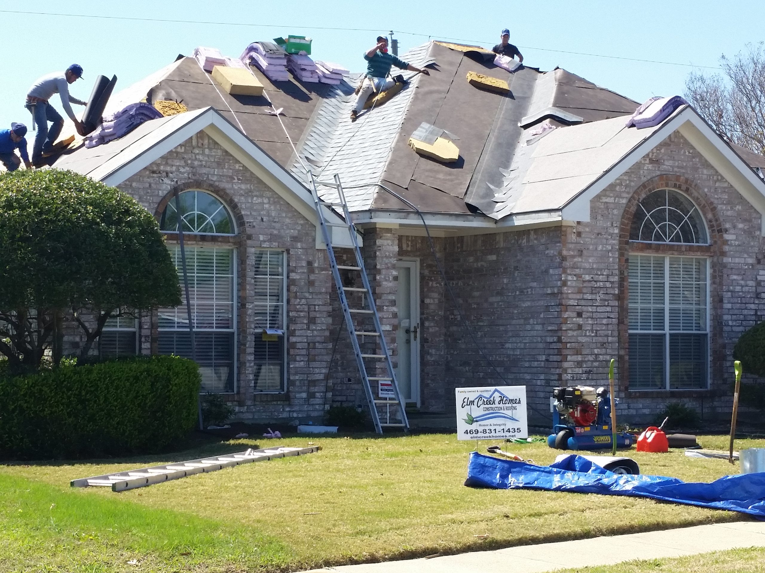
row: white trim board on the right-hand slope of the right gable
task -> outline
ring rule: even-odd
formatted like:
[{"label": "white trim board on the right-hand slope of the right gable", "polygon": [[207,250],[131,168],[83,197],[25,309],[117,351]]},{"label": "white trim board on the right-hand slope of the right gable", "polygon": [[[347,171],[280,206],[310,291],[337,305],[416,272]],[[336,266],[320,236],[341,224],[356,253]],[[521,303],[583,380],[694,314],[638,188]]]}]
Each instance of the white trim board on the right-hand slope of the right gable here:
[{"label": "white trim board on the right-hand slope of the right gable", "polygon": [[765,236],[765,182],[698,115],[678,129],[698,153],[760,213],[760,235]]}]

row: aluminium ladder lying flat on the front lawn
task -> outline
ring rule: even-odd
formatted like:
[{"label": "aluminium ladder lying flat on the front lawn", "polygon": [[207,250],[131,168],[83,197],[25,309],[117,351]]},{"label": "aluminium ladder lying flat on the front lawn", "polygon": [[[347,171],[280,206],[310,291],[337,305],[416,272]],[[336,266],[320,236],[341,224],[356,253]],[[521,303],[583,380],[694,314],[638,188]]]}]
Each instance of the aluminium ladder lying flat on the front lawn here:
[{"label": "aluminium ladder lying flat on the front lawn", "polygon": [[116,474],[97,475],[93,478],[72,480],[72,487],[111,487],[112,491],[134,490],[136,487],[160,484],[163,481],[186,478],[194,474],[207,474],[210,471],[233,468],[237,465],[249,464],[252,461],[267,461],[275,458],[287,458],[291,455],[312,454],[321,450],[320,445],[309,448],[285,448],[282,445],[274,448],[262,448],[236,454],[199,458],[197,460],[179,461],[177,464],[155,465],[151,468],[141,468],[132,471],[120,471]]}]

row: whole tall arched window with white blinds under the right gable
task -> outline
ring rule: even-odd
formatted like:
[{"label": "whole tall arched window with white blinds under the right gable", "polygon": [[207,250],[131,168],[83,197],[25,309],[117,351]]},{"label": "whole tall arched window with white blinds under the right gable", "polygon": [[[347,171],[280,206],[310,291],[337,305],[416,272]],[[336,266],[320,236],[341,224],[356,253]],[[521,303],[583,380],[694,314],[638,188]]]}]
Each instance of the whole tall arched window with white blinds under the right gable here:
[{"label": "whole tall arched window with white blinds under the right gable", "polygon": [[708,244],[702,214],[682,193],[659,189],[637,206],[630,241],[665,244],[627,255],[630,390],[707,388],[709,261],[666,248]]}]

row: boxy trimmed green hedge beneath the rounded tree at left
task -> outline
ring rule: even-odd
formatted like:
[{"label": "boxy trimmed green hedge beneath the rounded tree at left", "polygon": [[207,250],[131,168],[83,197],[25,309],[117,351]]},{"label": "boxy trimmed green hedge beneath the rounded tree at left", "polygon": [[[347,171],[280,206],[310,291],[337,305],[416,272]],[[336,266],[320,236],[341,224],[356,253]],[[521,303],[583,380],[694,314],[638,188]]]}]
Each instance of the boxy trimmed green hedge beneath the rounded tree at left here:
[{"label": "boxy trimmed green hedge beneath the rounded tree at left", "polygon": [[158,452],[197,422],[199,367],[138,357],[0,378],[0,458]]}]

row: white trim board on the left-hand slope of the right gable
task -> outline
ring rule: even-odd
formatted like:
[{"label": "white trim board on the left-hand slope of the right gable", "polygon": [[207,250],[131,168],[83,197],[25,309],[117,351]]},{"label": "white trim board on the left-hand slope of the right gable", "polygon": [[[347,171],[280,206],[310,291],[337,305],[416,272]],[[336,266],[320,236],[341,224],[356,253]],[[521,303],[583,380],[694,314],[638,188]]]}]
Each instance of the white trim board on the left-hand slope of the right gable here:
[{"label": "white trim board on the left-hand slope of the right gable", "polygon": [[609,167],[603,175],[597,178],[590,184],[584,191],[579,193],[574,199],[571,199],[563,206],[561,210],[562,219],[566,221],[589,221],[590,220],[590,201],[598,193],[601,193],[603,189],[614,183],[625,171],[630,169],[635,163],[637,163],[642,157],[644,157],[654,147],[664,141],[672,134],[677,128],[679,128],[685,121],[688,121],[695,115],[692,108],[687,107],[674,118],[667,121],[659,129],[649,135],[648,138],[643,140],[640,144],[637,144],[632,148],[624,157]]}]

